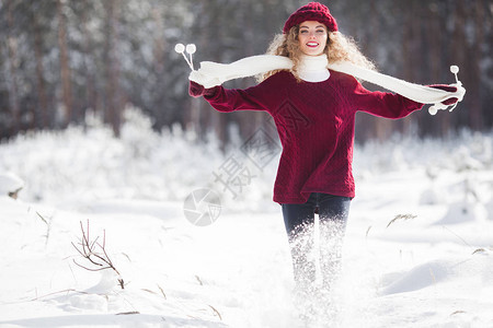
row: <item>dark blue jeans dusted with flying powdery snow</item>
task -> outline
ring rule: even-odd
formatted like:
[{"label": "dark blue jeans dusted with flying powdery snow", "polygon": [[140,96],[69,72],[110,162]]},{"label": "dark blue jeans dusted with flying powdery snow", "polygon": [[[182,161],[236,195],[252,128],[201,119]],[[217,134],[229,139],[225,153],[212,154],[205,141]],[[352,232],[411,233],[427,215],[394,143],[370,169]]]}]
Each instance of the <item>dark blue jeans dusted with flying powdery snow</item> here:
[{"label": "dark blue jeans dusted with flying powdery snow", "polygon": [[[295,281],[299,289],[309,292],[313,288],[317,261],[320,263],[323,288],[330,289],[339,274],[349,203],[348,197],[313,192],[306,203],[282,204]],[[319,214],[318,230],[314,229],[316,213]],[[318,245],[314,244],[316,232]]]}]

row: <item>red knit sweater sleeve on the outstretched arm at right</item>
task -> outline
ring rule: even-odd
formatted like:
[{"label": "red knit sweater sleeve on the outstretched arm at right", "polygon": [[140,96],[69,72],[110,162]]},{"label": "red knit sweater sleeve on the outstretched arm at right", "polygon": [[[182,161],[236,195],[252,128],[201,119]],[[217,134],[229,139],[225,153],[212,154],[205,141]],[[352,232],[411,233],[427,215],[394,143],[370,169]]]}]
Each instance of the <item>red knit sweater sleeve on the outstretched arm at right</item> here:
[{"label": "red knit sweater sleeve on the outstretched arm at right", "polygon": [[353,77],[351,77],[351,80],[348,98],[355,110],[385,118],[402,118],[414,110],[421,109],[424,105],[400,94],[368,91]]}]

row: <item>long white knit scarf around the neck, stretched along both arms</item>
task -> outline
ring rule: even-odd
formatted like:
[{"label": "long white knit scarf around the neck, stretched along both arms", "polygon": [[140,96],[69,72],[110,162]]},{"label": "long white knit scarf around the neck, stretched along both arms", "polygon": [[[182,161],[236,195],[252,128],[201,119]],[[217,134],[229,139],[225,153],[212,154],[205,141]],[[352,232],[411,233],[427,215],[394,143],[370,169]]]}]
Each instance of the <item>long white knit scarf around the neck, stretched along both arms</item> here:
[{"label": "long white knit scarf around the neck, stretched along both arms", "polygon": [[[322,82],[330,78],[328,68],[377,84],[412,101],[423,104],[433,104],[428,109],[432,115],[434,115],[437,109],[449,108],[449,106],[442,104],[442,102],[454,97],[458,98],[458,102],[461,102],[466,94],[466,89],[462,87],[462,83],[458,80],[457,83],[450,84],[450,86],[456,86],[457,91],[447,92],[435,87],[410,83],[377,71],[358,67],[347,61],[328,63],[325,55],[316,57],[303,56],[298,69],[298,75],[301,80],[307,82]],[[200,68],[198,70],[192,71],[190,80],[209,89],[233,79],[253,77],[273,70],[291,69],[293,61],[287,57],[260,55],[246,57],[231,63],[203,61],[200,62]],[[451,105],[449,110],[452,110],[456,105],[457,104]]]}]

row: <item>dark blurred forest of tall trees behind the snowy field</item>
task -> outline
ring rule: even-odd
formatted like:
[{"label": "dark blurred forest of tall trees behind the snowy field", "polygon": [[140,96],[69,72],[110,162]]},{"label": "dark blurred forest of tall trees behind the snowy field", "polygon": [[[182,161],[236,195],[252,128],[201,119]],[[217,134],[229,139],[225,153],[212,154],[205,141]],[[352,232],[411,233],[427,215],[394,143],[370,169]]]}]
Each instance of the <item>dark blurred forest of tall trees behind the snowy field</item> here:
[{"label": "dark blurred forest of tall trees behind the snowy field", "polygon": [[[173,51],[195,43],[195,61],[230,62],[264,54],[295,0],[0,0],[0,138],[21,131],[84,125],[98,114],[121,134],[126,106],[140,108],[156,130],[180,125],[222,144],[236,124],[242,138],[263,113],[220,115],[187,95],[188,68]],[[452,114],[426,110],[402,121],[357,118],[357,140],[400,131],[448,136],[493,124],[492,12],[489,0],[321,1],[381,72],[423,84],[467,89]],[[245,87],[253,80],[229,82]],[[368,87],[371,87],[368,85]]]}]

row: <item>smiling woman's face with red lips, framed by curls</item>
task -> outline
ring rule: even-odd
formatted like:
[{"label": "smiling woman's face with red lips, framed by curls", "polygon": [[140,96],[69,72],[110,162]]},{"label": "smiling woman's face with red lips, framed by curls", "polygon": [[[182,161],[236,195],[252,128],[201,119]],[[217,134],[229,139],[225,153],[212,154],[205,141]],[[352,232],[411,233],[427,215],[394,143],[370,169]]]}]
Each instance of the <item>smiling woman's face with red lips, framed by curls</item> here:
[{"label": "smiling woman's face with red lips, framed by curls", "polygon": [[299,24],[299,48],[305,55],[322,55],[326,45],[326,27],[317,21],[306,21]]}]

